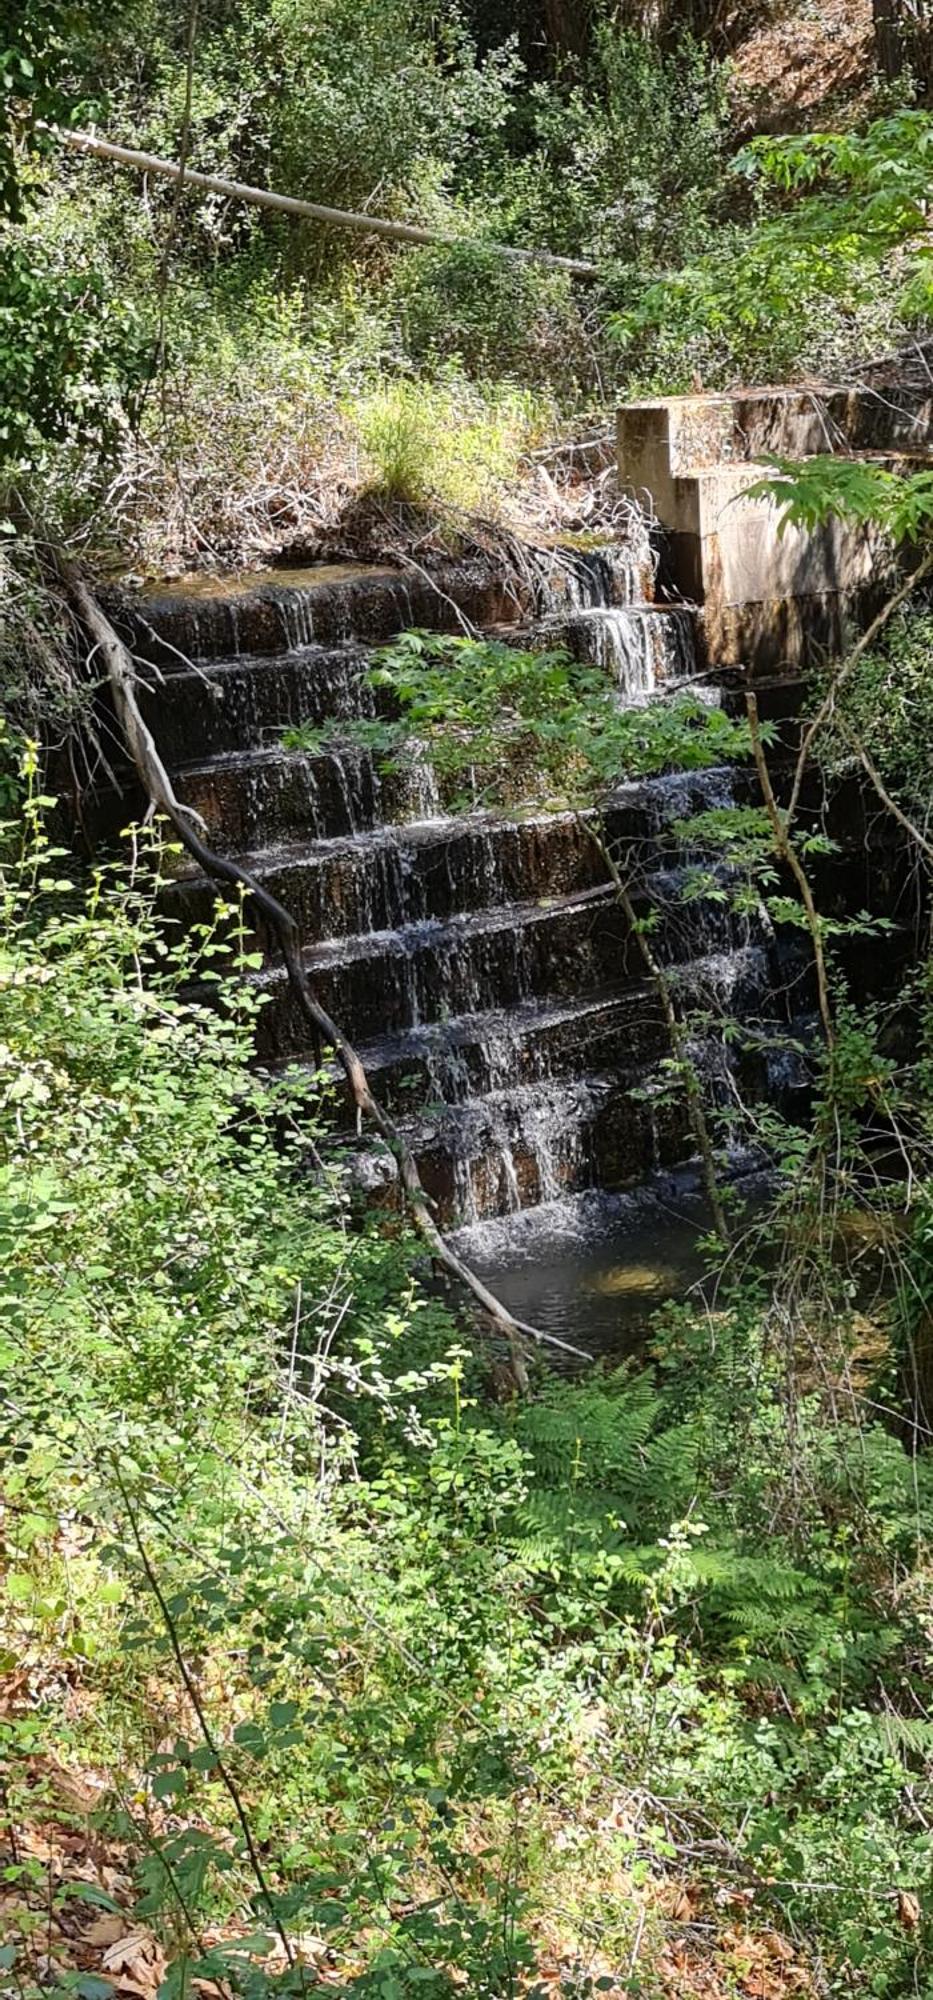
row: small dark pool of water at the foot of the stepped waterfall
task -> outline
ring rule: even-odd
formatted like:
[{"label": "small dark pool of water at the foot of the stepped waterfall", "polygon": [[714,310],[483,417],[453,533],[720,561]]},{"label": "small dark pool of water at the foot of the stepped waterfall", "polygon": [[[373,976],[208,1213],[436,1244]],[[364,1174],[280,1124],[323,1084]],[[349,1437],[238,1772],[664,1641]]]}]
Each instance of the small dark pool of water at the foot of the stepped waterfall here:
[{"label": "small dark pool of water at the foot of the stepped waterfall", "polygon": [[623,1358],[665,1300],[713,1300],[699,1250],[707,1230],[697,1182],[665,1176],[635,1194],[579,1194],[473,1224],[452,1242],[519,1320]]}]

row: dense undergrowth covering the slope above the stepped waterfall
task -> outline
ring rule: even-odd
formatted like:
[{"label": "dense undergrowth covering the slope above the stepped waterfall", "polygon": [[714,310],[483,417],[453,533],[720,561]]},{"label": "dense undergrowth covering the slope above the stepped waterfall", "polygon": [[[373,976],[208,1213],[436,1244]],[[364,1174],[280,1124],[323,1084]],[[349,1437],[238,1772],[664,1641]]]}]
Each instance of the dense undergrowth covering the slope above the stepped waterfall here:
[{"label": "dense undergrowth covering the slope above the stepped waterfall", "polygon": [[[861,152],[749,150],[723,36],[657,40],[637,12],[595,8],[585,46],[549,48],[509,10],[422,0],[18,10],[0,434],[42,512],[136,568],[308,538],[360,488],[533,518],[555,500],[535,452],[607,398],[845,372],[921,324],[909,78],[873,80],[865,46]],[[460,242],[140,184],[42,118]]]}]

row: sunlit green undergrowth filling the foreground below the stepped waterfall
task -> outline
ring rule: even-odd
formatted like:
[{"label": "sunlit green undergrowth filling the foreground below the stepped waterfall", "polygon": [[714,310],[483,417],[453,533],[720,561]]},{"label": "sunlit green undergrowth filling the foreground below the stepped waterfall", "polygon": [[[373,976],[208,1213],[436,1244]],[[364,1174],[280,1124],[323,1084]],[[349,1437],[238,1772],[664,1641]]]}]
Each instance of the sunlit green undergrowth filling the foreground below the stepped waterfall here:
[{"label": "sunlit green undergrowth filling the foreground below the stepped waterfall", "polygon": [[[434,652],[380,672],[456,776],[489,694],[460,644],[444,738]],[[593,676],[521,660],[485,662],[521,738],[557,754],[559,676],[583,760]],[[721,718],[615,726],[613,768],[663,768]],[[0,960],[12,1990],[931,1992],[933,1468],[897,1422],[929,1224],[861,1150],[883,1102],[925,1172],[923,974],[899,1066],[839,990],[713,1304],[497,1402],[328,1160],[334,1086],[250,1066],[244,912],[174,936],[152,834],[82,888],[38,782],[26,752]],[[853,1200],[899,1290],[839,1258]]]}]

